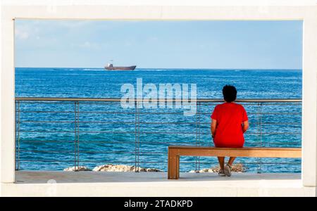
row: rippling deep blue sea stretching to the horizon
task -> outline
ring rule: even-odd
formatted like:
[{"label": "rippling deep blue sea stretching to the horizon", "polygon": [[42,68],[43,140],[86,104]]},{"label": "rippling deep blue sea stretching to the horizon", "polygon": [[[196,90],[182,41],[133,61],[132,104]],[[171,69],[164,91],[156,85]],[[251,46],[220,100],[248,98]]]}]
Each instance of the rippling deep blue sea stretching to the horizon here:
[{"label": "rippling deep blue sea stretching to the horizon", "polygon": [[[137,78],[158,87],[197,84],[197,98],[222,98],[225,84],[237,87],[239,99],[302,98],[302,70],[102,68],[15,68],[15,96],[120,99],[121,86],[136,84]],[[20,101],[16,167],[63,170],[79,158],[79,165],[89,168],[111,163],[166,171],[169,145],[213,146],[210,115],[216,104],[200,103],[196,115],[184,116],[179,108],[140,108],[136,115],[135,109],[121,108],[120,102],[80,102],[76,107],[71,101]],[[242,105],[250,122],[245,146],[301,146],[302,103]],[[216,158],[184,157],[180,162],[181,172],[217,165]],[[237,158],[236,162],[244,164],[247,172],[301,172],[301,160],[294,158]]]}]

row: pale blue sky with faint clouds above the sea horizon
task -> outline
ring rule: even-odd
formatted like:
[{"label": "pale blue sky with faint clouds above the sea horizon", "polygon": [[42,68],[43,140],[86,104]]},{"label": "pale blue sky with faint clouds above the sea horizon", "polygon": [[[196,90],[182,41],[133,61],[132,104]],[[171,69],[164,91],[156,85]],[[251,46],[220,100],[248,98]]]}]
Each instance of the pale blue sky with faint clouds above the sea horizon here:
[{"label": "pale blue sky with faint clouds above the sea horizon", "polygon": [[16,20],[16,67],[302,68],[302,21]]}]

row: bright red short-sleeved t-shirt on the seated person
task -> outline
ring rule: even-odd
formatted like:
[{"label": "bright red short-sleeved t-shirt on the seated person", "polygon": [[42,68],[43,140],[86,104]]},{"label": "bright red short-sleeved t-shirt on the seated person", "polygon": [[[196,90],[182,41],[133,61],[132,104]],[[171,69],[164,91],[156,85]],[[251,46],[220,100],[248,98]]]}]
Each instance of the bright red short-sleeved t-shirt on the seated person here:
[{"label": "bright red short-sleeved t-shirt on the seated person", "polygon": [[248,117],[242,105],[237,103],[217,105],[211,118],[217,121],[216,134],[213,137],[216,147],[243,147],[242,122],[247,121]]}]

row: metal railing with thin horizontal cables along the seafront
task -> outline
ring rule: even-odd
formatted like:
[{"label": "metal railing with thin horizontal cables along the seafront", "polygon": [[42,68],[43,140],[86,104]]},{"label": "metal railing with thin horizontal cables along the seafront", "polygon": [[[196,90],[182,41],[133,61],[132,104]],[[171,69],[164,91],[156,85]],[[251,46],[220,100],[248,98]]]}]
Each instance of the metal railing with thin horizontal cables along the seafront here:
[{"label": "metal railing with thin horizontal cables along the seafront", "polygon": [[[136,99],[135,105],[142,100]],[[178,101],[159,99],[158,101]],[[120,98],[15,98],[16,170],[63,170],[127,164],[166,171],[168,145],[213,146],[210,115],[222,99],[197,99],[197,113],[180,109],[121,108]],[[250,127],[245,146],[300,147],[301,99],[241,99]],[[249,170],[300,172],[300,159],[237,158]],[[187,157],[198,172],[216,158]]]}]

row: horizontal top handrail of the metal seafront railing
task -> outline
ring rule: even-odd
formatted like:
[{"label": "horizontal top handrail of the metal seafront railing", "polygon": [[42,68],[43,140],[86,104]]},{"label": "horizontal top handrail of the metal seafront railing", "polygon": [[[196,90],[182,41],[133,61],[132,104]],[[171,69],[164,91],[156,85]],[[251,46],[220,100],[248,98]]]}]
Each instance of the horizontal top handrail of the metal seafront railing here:
[{"label": "horizontal top handrail of the metal seafront railing", "polygon": [[[15,97],[15,101],[104,101],[104,102],[120,102],[121,98],[39,98],[39,97]],[[143,99],[135,98],[135,99],[130,99],[130,101],[143,101]],[[157,100],[158,102],[179,102],[182,101],[182,99],[178,98],[159,98]],[[223,102],[223,99],[220,98],[200,98],[196,100],[197,102]],[[265,102],[270,102],[270,103],[283,103],[283,102],[302,102],[301,98],[242,98],[242,99],[237,99],[236,102],[240,103],[265,103]]]}]

